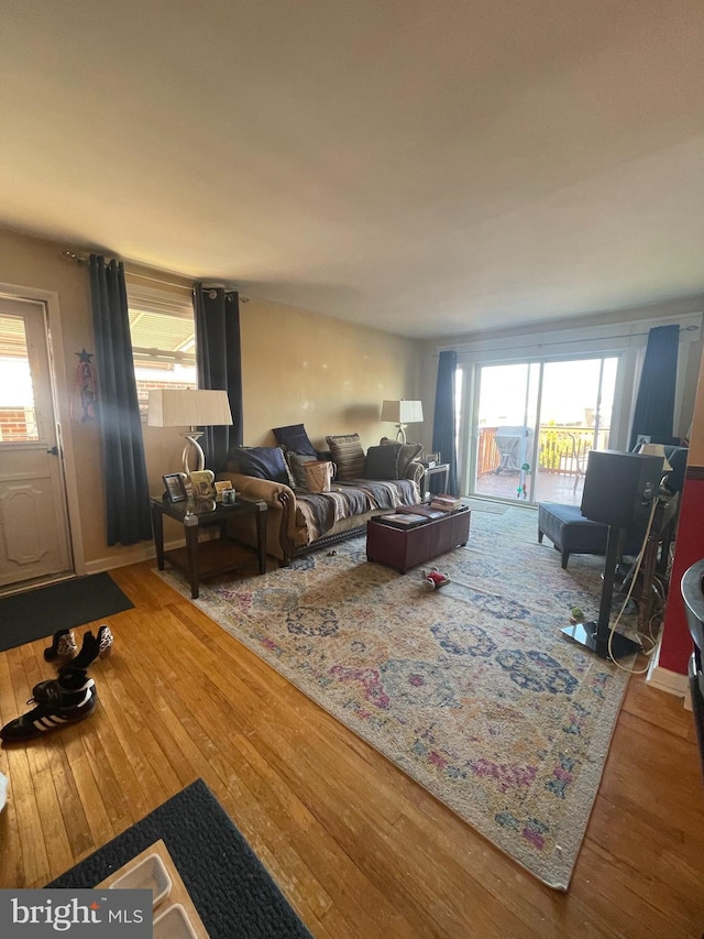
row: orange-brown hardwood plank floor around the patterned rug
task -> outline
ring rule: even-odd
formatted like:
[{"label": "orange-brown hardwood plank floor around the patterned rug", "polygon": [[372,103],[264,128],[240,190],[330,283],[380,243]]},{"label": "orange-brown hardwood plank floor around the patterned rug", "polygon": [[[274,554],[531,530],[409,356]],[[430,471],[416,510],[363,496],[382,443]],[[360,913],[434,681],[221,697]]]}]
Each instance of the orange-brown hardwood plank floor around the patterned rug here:
[{"label": "orange-brown hardwood plank floor around the patterned rug", "polygon": [[[202,777],[316,937],[698,939],[704,789],[679,699],[631,679],[570,891],[558,893],[153,566],[112,572],[135,608],[109,620],[96,713],[0,751],[0,888],[44,885]],[[0,654],[2,722],[52,676],[45,645]]]}]

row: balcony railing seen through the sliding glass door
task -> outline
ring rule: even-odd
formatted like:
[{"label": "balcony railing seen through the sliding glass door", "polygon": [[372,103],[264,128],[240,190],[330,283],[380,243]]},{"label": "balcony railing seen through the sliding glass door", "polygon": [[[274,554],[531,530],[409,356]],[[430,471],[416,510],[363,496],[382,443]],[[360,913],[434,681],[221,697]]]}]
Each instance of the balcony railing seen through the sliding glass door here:
[{"label": "balcony railing seen through the sliding glass door", "polygon": [[[477,478],[496,472],[502,457],[496,444],[498,427],[482,427],[477,439]],[[601,427],[594,447],[594,428],[541,424],[538,438],[538,472],[583,474],[590,450],[604,450],[608,446],[608,427]],[[532,454],[532,438],[528,439],[528,462]]]}]

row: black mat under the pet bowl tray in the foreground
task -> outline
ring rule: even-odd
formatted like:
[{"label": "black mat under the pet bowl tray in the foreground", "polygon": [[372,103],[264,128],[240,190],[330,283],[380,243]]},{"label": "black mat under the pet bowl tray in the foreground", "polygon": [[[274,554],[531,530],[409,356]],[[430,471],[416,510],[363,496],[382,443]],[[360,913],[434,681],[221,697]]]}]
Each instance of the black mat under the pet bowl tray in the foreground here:
[{"label": "black mat under the pet bowl tray in the foreground", "polygon": [[311,939],[202,779],[46,886],[95,887],[160,839],[210,939]]}]

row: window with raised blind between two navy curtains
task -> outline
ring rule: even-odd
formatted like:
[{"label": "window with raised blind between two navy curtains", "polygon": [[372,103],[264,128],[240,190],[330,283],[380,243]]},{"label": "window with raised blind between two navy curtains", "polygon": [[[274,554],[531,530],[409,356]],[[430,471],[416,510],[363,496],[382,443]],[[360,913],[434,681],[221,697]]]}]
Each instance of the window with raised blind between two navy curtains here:
[{"label": "window with raised blind between two navy curtains", "polygon": [[188,287],[172,292],[144,287],[135,275],[125,280],[136,394],[146,421],[150,389],[196,387],[193,299]]}]

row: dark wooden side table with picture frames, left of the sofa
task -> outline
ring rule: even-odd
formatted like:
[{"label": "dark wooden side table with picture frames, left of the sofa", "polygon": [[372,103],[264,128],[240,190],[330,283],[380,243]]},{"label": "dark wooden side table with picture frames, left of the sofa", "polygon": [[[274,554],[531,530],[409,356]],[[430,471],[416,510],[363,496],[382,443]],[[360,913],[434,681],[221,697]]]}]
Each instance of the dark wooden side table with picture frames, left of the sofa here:
[{"label": "dark wooden side table with picture frames, left of the sofa", "polygon": [[[242,564],[241,550],[233,550],[238,545],[230,539],[226,532],[228,522],[254,516],[256,520],[256,548],[258,572],[266,572],[266,502],[250,502],[239,499],[232,505],[223,505],[213,499],[190,500],[183,502],[165,502],[163,499],[150,499],[152,524],[154,526],[154,545],[156,547],[156,564],[164,570],[164,561],[183,571],[190,583],[190,596],[197,599],[201,578],[213,577],[235,570]],[[175,550],[164,550],[164,515],[175,518],[184,526],[186,547]],[[220,537],[209,542],[200,542],[198,533],[201,528],[216,526]]]}]

